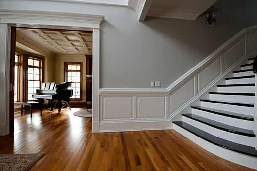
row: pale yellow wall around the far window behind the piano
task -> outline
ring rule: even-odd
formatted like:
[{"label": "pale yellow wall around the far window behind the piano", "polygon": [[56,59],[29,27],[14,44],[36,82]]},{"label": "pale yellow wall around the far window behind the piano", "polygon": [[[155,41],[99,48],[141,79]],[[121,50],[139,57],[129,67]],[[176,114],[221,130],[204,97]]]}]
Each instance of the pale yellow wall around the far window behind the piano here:
[{"label": "pale yellow wall around the far window behind the piano", "polygon": [[52,63],[54,64],[52,70],[55,84],[64,82],[64,62],[82,62],[82,102],[86,102],[86,58],[55,57]]}]

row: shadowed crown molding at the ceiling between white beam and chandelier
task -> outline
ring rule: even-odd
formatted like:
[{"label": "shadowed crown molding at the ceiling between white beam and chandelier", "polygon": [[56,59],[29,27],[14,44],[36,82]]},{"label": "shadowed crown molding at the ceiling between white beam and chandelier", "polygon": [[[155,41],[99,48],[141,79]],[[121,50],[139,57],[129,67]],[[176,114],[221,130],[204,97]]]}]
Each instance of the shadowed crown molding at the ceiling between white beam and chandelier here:
[{"label": "shadowed crown molding at the ceiling between white beam and chandelier", "polygon": [[203,11],[201,9],[189,10],[172,6],[152,5],[147,16],[196,20],[202,12]]}]

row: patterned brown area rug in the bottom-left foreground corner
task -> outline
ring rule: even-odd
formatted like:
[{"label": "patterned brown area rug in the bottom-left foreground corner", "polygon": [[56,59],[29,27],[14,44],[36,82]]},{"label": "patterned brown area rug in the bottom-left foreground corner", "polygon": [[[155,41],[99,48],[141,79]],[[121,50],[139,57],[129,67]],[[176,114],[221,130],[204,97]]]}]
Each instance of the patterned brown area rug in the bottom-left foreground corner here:
[{"label": "patterned brown area rug in the bottom-left foreground corner", "polygon": [[44,153],[0,154],[0,171],[28,171]]}]

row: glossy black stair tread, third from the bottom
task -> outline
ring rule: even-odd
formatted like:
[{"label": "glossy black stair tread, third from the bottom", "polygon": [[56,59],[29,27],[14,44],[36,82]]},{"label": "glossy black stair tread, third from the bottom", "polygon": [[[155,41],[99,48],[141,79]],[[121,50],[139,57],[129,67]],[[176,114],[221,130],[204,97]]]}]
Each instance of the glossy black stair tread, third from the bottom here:
[{"label": "glossy black stair tread, third from the bottom", "polygon": [[226,117],[254,121],[254,116],[251,116],[251,115],[244,115],[244,114],[240,114],[240,113],[218,110],[218,109],[213,109],[213,108],[208,108],[208,107],[203,107],[203,106],[191,106],[191,108],[218,114],[218,115],[222,115],[222,116],[226,116]]}]

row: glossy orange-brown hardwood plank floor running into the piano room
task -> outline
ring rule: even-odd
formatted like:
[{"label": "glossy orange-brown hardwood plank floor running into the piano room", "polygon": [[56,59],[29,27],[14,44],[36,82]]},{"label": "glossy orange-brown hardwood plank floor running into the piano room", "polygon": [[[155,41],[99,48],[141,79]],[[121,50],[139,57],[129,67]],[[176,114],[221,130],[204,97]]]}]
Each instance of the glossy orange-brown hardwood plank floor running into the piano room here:
[{"label": "glossy orange-brown hardwood plank floor running into the piano room", "polygon": [[29,171],[255,171],[207,152],[174,130],[91,133],[91,118],[35,110],[15,115],[0,154],[45,153]]}]

